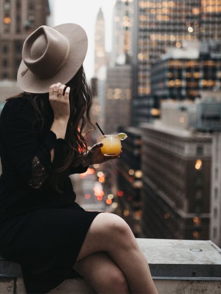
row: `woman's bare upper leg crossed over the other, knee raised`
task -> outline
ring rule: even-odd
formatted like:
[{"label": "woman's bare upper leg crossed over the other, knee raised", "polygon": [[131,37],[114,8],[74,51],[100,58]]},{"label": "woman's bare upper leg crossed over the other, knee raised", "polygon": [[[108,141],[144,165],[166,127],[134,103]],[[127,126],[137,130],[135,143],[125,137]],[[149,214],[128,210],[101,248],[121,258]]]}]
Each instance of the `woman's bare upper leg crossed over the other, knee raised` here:
[{"label": "woman's bare upper leg crossed over the other, knee raised", "polygon": [[127,280],[130,293],[158,293],[144,254],[121,217],[112,213],[100,213],[95,217],[78,260],[96,252],[106,252],[114,260]]}]

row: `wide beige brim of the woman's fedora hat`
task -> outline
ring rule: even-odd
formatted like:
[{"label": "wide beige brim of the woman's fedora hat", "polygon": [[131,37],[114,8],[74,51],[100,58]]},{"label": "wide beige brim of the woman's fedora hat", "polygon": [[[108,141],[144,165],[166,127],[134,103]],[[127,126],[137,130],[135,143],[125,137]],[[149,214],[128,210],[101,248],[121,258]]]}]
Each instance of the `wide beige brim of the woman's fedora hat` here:
[{"label": "wide beige brim of the woman's fedora hat", "polygon": [[[17,72],[17,83],[21,90],[29,93],[47,93],[52,84],[69,82],[83,64],[87,52],[87,36],[82,27],[76,23],[64,23],[53,28],[64,35],[70,43],[70,53],[67,62],[52,77],[39,79],[27,70],[25,75],[21,72],[27,69],[26,64],[21,60]],[[42,69],[43,70],[43,69]]]}]

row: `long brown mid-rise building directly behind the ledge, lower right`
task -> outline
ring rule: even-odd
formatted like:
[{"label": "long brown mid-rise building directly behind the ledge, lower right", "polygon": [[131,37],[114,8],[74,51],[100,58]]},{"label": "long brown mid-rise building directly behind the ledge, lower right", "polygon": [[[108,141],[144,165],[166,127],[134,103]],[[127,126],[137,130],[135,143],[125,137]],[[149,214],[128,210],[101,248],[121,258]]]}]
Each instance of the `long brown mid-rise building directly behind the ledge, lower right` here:
[{"label": "long brown mid-rise building directly behind the ledge, lower right", "polygon": [[160,125],[142,130],[143,236],[208,239],[211,135]]}]

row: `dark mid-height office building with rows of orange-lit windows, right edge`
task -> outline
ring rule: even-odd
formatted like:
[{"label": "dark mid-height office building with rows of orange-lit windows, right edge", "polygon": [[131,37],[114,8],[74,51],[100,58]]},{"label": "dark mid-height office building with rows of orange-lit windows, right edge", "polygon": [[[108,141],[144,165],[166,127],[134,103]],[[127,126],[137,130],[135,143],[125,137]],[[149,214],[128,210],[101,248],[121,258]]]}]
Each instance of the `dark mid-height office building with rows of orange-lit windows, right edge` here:
[{"label": "dark mid-height office building with rows of orange-lit windows, right edge", "polygon": [[221,40],[183,42],[151,67],[151,95],[160,112],[162,100],[192,100],[221,85]]}]

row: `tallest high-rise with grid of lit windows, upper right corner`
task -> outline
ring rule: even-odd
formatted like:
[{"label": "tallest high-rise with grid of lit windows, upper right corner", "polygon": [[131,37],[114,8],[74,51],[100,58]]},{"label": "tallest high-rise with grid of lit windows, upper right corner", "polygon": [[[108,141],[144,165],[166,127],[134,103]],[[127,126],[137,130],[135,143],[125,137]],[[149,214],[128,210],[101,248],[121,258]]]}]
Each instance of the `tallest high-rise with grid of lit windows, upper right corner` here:
[{"label": "tallest high-rise with grid of lit windows, upper right corner", "polygon": [[133,36],[132,124],[151,121],[151,65],[168,47],[185,40],[221,38],[220,0],[136,0]]}]

